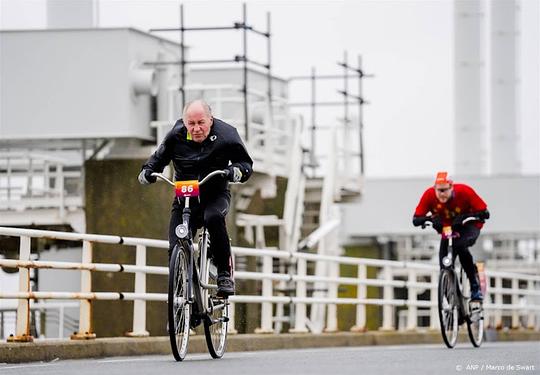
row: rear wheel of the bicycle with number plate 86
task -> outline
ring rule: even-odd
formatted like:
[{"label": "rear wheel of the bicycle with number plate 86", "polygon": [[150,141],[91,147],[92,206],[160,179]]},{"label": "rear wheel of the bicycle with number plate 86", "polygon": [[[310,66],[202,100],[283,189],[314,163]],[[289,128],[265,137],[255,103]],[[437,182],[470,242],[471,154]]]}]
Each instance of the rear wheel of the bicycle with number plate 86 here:
[{"label": "rear wheel of the bicycle with number plate 86", "polygon": [[[206,284],[217,284],[217,270],[210,259],[207,260],[206,275],[203,280]],[[218,298],[216,289],[207,289],[204,296],[208,305],[208,316],[204,320],[204,335],[206,345],[212,358],[221,358],[227,346],[227,331],[229,328],[229,301]]]}]

